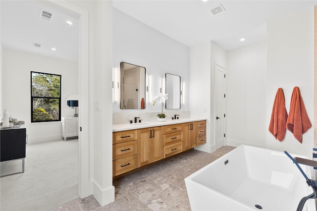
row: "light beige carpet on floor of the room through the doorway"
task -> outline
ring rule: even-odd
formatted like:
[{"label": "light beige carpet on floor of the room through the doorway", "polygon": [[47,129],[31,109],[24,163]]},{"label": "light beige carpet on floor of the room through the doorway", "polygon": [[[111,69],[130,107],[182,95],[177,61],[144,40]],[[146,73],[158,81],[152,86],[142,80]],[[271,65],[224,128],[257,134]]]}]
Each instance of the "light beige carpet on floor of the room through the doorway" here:
[{"label": "light beige carpet on floor of the room through the doorway", "polygon": [[[22,160],[0,171],[22,170]],[[27,144],[25,172],[0,178],[0,211],[47,211],[78,198],[78,139]]]}]

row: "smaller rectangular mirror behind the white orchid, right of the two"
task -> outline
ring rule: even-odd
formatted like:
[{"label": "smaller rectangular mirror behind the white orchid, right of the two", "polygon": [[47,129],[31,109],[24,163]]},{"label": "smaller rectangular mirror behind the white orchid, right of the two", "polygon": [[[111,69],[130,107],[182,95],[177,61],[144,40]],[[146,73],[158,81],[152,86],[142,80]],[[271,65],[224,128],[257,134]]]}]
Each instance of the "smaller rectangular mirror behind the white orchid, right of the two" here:
[{"label": "smaller rectangular mirror behind the white orchid, right of the two", "polygon": [[165,74],[165,87],[168,99],[166,100],[166,109],[179,109],[180,108],[180,76],[172,75],[169,73]]}]

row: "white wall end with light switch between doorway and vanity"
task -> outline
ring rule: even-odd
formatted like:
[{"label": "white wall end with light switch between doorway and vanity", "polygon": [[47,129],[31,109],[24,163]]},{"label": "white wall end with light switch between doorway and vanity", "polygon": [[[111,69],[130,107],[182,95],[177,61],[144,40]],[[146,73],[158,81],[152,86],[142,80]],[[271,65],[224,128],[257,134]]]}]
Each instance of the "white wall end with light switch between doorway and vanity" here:
[{"label": "white wall end with light switch between doorway and vanity", "polygon": [[[93,194],[104,206],[114,201],[112,186],[112,1],[69,1],[88,12],[89,19],[89,139],[81,139],[80,177],[85,190],[81,197]],[[86,15],[86,14],[85,14]],[[87,40],[83,40],[87,44]],[[84,57],[86,59],[86,57]],[[87,69],[84,70],[86,72]],[[82,81],[85,81],[82,78]],[[85,81],[86,83],[87,81]],[[101,109],[94,110],[94,102],[101,102]],[[82,131],[83,132],[83,131]],[[88,145],[87,145],[88,144]],[[82,148],[81,148],[82,147]],[[89,153],[88,153],[89,152]],[[84,155],[83,155],[84,154]],[[87,172],[89,172],[87,177]]]}]

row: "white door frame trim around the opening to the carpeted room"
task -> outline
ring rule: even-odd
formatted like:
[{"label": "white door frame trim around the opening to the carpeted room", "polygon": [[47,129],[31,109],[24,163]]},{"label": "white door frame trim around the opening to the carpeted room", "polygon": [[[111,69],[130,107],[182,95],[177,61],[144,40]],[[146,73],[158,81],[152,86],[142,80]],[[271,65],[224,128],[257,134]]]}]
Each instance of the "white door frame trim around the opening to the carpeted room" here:
[{"label": "white door frame trim around the opening to the carpeted room", "polygon": [[[42,1],[43,2],[43,1]],[[90,121],[89,120],[89,12],[66,0],[46,0],[45,3],[54,8],[61,9],[67,14],[79,20],[79,63],[78,63],[78,95],[79,95],[79,180],[78,194],[80,198],[90,196],[92,191],[92,178],[89,168],[91,159],[89,158],[90,147]]]}]

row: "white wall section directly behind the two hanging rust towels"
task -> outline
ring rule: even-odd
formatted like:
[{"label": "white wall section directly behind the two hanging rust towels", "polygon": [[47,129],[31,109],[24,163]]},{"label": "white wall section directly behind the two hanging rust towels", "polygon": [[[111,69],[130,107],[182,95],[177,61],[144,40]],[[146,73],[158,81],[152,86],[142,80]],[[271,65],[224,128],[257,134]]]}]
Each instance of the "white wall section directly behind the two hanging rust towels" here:
[{"label": "white wall section directly behind the two hanging rust towels", "polygon": [[314,8],[283,16],[267,23],[267,81],[266,81],[266,147],[269,149],[311,156],[314,129],[303,135],[303,144],[290,131],[282,142],[268,132],[271,109],[277,89],[284,91],[289,111],[293,88],[298,86],[314,123]]}]

